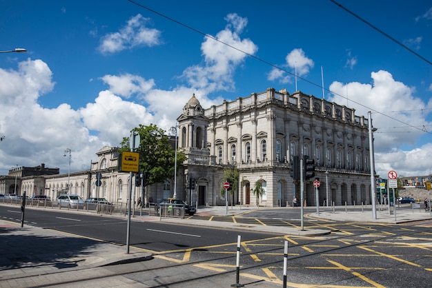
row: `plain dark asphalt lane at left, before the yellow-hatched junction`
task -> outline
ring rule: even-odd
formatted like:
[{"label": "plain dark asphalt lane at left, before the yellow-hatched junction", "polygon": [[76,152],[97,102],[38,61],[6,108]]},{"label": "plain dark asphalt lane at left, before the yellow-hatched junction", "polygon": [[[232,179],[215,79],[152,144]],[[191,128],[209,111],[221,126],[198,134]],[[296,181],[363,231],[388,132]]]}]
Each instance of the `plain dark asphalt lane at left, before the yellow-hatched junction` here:
[{"label": "plain dark asphalt lane at left, before the yellow-hatched junction", "polygon": [[[0,216],[10,220],[21,219],[20,207],[0,206]],[[127,220],[85,213],[68,213],[61,210],[26,209],[26,224],[60,232],[77,234],[108,243],[126,245]],[[152,253],[173,251],[190,247],[235,243],[239,233],[232,229],[212,229],[197,226],[173,225],[156,221],[131,221],[130,245]],[[272,234],[242,232],[243,240],[254,240]]]}]

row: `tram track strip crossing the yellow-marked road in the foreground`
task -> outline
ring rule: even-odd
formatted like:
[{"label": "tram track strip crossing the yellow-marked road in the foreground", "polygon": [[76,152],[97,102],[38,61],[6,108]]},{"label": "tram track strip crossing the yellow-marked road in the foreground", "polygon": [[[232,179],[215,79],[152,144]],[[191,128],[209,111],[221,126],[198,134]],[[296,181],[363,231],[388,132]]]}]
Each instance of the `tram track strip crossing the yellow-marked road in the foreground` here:
[{"label": "tram track strip crossing the yellow-marked road in the foreground", "polygon": [[[358,224],[358,223],[357,223]],[[371,226],[371,225],[369,225]],[[380,225],[382,228],[382,226]],[[365,227],[370,228],[370,227]],[[409,237],[413,234],[423,234],[428,232],[430,229],[429,227],[416,227],[415,229],[400,229],[400,226],[398,225],[389,225],[386,229],[380,229],[379,232],[379,240],[380,242],[384,242],[386,240],[392,240],[395,238],[402,238],[402,237]],[[302,237],[293,237],[293,236],[275,236],[273,239],[278,239],[281,245],[264,245],[262,247],[257,249],[257,246],[254,246],[259,241],[264,241],[265,239],[257,239],[257,240],[248,240],[242,242],[242,267],[241,267],[241,275],[253,275],[255,274],[255,271],[261,270],[265,271],[268,269],[268,267],[279,267],[277,269],[280,270],[280,267],[282,267],[283,262],[283,245],[282,242],[284,240],[288,240],[290,243],[290,247],[288,252],[289,260],[296,260],[308,262],[311,260],[311,258],[321,256],[323,254],[344,254],[344,249],[350,249],[353,247],[364,247],[366,245],[376,244],[377,243],[377,237],[375,235],[371,235],[371,229],[367,229],[366,231],[362,233],[357,234],[345,234],[335,237],[319,237],[319,238],[302,238]],[[241,233],[239,233],[241,234]],[[371,239],[365,239],[364,237],[370,235]],[[353,237],[362,238],[362,240],[353,240]],[[333,241],[337,240],[339,243],[342,243],[342,246],[331,245]],[[297,244],[296,244],[297,243]],[[99,267],[97,269],[103,270],[106,269],[106,271],[109,271],[110,273],[103,274],[101,271],[99,273],[95,274],[94,277],[86,277],[83,279],[70,279],[67,280],[68,277],[65,277],[64,281],[52,283],[52,285],[68,285],[70,283],[75,283],[75,285],[80,285],[85,282],[91,281],[91,280],[100,280],[102,278],[110,278],[110,277],[125,277],[129,278],[131,280],[135,280],[137,282],[141,282],[144,285],[148,285],[151,283],[150,287],[172,287],[177,286],[180,287],[181,285],[194,285],[194,282],[199,282],[200,280],[205,280],[206,278],[227,278],[232,277],[236,273],[236,267],[235,267],[235,245],[236,243],[226,243],[224,245],[215,245],[217,247],[224,246],[224,253],[212,253],[211,249],[214,247],[191,247],[189,249],[178,249],[175,251],[161,251],[161,252],[154,252],[153,253],[153,260],[146,261],[146,263],[141,263],[140,265],[137,265],[137,263],[134,264],[122,264],[122,265],[128,265],[127,267],[121,267],[119,264],[114,264],[105,266],[105,267]],[[226,250],[228,247],[232,247],[232,249]],[[245,249],[244,247],[249,247],[250,250]],[[313,251],[311,249],[305,249],[304,247],[319,247],[319,251]],[[139,249],[139,248],[138,248]],[[230,251],[232,250],[232,251]],[[291,251],[302,251],[304,253],[292,253]],[[190,260],[188,258],[187,260],[179,260],[178,254],[192,254],[194,252],[206,254],[211,253],[211,258],[208,259],[199,259],[199,260]],[[267,258],[266,260],[260,260],[259,262],[255,261],[255,257],[261,257],[263,255],[275,255],[280,256],[280,258],[273,257],[271,259]],[[255,256],[255,257],[254,257]],[[244,259],[248,259],[245,261]],[[307,259],[307,260],[306,260]],[[153,262],[155,260],[155,262]],[[170,263],[167,265],[167,262]],[[171,276],[167,276],[167,271],[170,271],[169,274]],[[193,271],[193,273],[186,273],[185,271]],[[145,272],[145,273],[144,273]],[[68,271],[65,272],[59,272],[59,274],[68,273]],[[168,274],[168,275],[169,275]],[[193,276],[191,276],[193,275]],[[261,278],[262,281],[264,280],[270,280],[270,278],[266,278],[264,276],[256,276],[257,278]],[[56,277],[57,279],[61,277]],[[247,277],[247,280],[242,278],[242,284],[248,285],[257,282],[257,278],[250,278]],[[157,281],[155,280],[157,279]],[[233,282],[234,282],[234,278]],[[280,280],[280,279],[279,279]],[[275,279],[273,279],[273,282]],[[41,287],[41,286],[39,286]]]}]

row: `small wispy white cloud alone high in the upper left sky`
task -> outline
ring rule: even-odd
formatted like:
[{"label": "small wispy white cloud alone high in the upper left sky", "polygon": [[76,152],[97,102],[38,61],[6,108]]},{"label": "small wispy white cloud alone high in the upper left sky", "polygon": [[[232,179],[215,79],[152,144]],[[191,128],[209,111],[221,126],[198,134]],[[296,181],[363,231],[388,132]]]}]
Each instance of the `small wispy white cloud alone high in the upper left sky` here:
[{"label": "small wispy white cloud alone high in the upper left sky", "polygon": [[131,17],[119,32],[112,32],[102,37],[99,51],[110,54],[135,47],[159,45],[161,32],[147,28],[148,21],[149,19],[142,17],[141,14]]}]

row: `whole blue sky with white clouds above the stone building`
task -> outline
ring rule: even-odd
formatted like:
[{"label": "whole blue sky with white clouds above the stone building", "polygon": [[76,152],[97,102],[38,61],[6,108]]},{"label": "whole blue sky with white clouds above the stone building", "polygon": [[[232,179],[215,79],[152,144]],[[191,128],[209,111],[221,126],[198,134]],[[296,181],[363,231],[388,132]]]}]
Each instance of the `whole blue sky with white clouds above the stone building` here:
[{"label": "whole blue sky with white clouds above the stone building", "polygon": [[373,112],[378,174],[430,174],[432,4],[337,3],[426,61],[330,0],[0,0],[0,50],[28,50],[0,54],[0,174],[67,173],[66,148],[88,169],[139,123],[175,125],[193,93],[292,93],[295,70],[297,90],[322,97],[323,71],[326,99]]}]

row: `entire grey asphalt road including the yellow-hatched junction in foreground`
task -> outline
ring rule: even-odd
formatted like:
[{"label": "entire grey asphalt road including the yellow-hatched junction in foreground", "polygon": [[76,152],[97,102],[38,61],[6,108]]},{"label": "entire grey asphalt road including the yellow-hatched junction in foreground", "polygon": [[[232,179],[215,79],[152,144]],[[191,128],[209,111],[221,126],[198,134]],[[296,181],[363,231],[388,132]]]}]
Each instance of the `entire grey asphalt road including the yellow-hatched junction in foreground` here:
[{"label": "entire grey asphalt road including the yellow-hatched junction in foreground", "polygon": [[[0,216],[19,220],[19,207],[0,207]],[[194,216],[195,217],[195,216]],[[296,211],[250,212],[237,222],[299,225]],[[113,243],[126,242],[126,220],[110,216],[26,210],[28,225],[84,235]],[[218,216],[213,220],[231,221]],[[242,273],[246,287],[280,287],[284,272],[284,243],[288,242],[288,287],[430,287],[432,230],[424,223],[393,225],[308,219],[306,225],[326,227],[320,237],[280,236],[172,225],[131,223],[131,245],[153,251],[146,265],[131,263],[109,269],[112,276],[147,287],[226,287],[234,283],[237,234],[242,234]],[[92,279],[97,281],[97,278]],[[74,285],[88,286],[82,281]],[[66,287],[66,286],[65,286]]]}]

